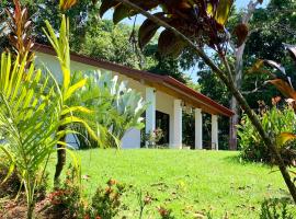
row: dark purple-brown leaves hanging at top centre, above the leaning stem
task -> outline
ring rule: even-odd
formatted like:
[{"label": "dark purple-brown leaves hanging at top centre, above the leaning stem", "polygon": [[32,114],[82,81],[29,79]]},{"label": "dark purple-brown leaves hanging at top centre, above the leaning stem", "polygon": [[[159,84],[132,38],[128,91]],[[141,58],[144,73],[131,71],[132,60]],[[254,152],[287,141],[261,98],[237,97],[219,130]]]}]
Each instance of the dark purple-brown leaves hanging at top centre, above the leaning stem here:
[{"label": "dark purple-brown leaves hanging at top centre, above the leaning stem", "polygon": [[[227,22],[232,1],[182,1],[182,2],[135,2],[137,7],[150,11],[157,7],[162,8],[161,12],[153,15],[166,21],[177,30],[181,30],[185,35],[198,42],[200,45],[208,45],[217,49],[217,45],[225,42],[227,34],[224,25]],[[114,8],[113,22],[118,23],[125,18],[136,15],[138,11],[132,10],[126,4],[116,1],[102,1],[100,15]],[[138,38],[139,46],[143,48],[155,36],[160,25],[147,19],[140,26]],[[210,38],[209,38],[210,37]],[[180,36],[171,30],[163,30],[158,39],[158,49],[163,55],[178,56],[186,44]]]}]

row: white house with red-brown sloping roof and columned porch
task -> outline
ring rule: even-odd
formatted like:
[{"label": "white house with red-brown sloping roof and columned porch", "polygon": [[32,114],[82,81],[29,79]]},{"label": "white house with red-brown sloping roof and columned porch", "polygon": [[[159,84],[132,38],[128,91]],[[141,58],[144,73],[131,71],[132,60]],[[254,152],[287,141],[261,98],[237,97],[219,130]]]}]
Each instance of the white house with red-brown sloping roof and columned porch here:
[{"label": "white house with red-brown sloping roof and columned porch", "polygon": [[[36,65],[45,65],[52,72],[59,72],[60,67],[52,47],[36,44]],[[174,149],[182,148],[182,111],[191,108],[195,113],[195,149],[203,148],[203,113],[212,115],[212,148],[218,150],[218,116],[230,117],[234,113],[209,97],[190,89],[168,76],[158,76],[147,71],[132,69],[105,60],[93,59],[71,54],[71,70],[110,71],[118,79],[128,81],[132,89],[140,92],[150,103],[146,111],[148,134],[161,125],[164,138]],[[123,148],[140,148],[140,130],[130,129],[122,139]]]}]

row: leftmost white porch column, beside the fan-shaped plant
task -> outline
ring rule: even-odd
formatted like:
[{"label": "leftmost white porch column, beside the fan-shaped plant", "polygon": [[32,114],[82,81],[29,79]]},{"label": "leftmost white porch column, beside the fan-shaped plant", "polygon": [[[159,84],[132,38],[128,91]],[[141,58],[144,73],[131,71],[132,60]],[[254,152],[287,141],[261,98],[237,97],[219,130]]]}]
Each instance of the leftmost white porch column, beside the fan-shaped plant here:
[{"label": "leftmost white porch column, beside the fan-shaped plant", "polygon": [[146,102],[149,104],[146,110],[145,132],[150,134],[156,129],[156,90],[146,88]]}]

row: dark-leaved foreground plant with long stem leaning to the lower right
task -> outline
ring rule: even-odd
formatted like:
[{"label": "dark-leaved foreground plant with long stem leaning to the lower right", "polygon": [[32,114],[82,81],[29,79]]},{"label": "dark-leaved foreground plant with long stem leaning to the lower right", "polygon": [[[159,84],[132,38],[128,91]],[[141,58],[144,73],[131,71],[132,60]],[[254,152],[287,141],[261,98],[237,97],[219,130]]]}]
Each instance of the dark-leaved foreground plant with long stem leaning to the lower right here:
[{"label": "dark-leaved foreground plant with long stem leaning to the lower right", "polygon": [[[229,33],[225,27],[231,5],[231,0],[164,2],[160,0],[103,0],[100,14],[102,15],[107,10],[114,9],[113,21],[115,23],[138,13],[144,14],[149,20],[146,20],[139,30],[140,46],[145,46],[160,27],[164,27],[161,30],[158,42],[158,48],[164,55],[178,55],[185,47],[191,47],[229,89],[259,131],[264,143],[270,147],[289,193],[296,203],[296,186],[277,150],[276,140],[270,138],[264,131],[258,116],[253,114],[253,111],[234,82],[235,70],[231,68],[227,57]],[[156,8],[160,9],[160,11],[155,12],[153,9]],[[150,12],[155,12],[155,14]],[[248,30],[242,30],[236,33],[240,39],[246,38],[246,34],[249,33]],[[219,65],[215,64],[204,53],[204,46],[212,48],[217,54]]]}]

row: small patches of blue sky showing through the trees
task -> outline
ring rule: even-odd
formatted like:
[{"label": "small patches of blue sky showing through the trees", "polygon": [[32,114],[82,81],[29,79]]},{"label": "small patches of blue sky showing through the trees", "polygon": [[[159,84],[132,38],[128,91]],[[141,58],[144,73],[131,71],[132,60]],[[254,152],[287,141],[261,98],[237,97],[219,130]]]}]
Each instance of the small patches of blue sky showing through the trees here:
[{"label": "small patches of blue sky showing through the trees", "polygon": [[[255,0],[253,0],[253,1],[255,1]],[[270,0],[263,0],[262,7],[266,7],[266,4],[269,3],[269,1],[270,1]],[[237,5],[238,9],[246,9],[249,2],[250,2],[249,0],[236,0],[236,1],[235,1],[235,4]],[[113,12],[112,12],[112,11],[109,11],[109,12],[104,15],[104,19],[112,19],[112,14],[113,14]],[[145,18],[141,16],[141,15],[139,15],[139,16],[137,18],[136,23],[137,23],[137,24],[141,24],[141,22],[143,22],[144,20],[145,20]],[[134,19],[125,19],[123,22],[133,25]],[[196,82],[196,80],[197,80],[196,72],[197,72],[197,69],[196,69],[196,68],[192,68],[191,70],[187,70],[185,73],[186,73],[194,82]]]}]

